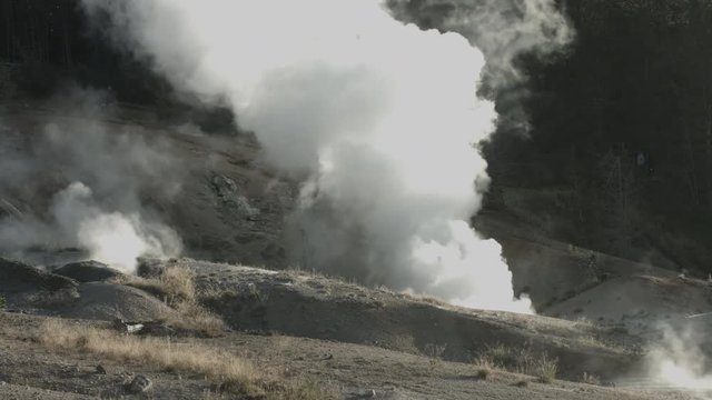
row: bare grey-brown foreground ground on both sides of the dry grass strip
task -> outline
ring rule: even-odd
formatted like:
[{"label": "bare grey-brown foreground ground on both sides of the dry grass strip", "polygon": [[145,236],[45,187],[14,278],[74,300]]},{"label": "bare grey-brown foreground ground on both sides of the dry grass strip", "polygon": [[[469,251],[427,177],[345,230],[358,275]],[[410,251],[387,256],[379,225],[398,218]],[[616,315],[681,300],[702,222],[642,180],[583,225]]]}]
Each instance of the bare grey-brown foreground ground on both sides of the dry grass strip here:
[{"label": "bare grey-brown foreground ground on both sides of the dry grass strip", "polygon": [[[154,399],[206,398],[206,391],[215,388],[198,376],[43,348],[28,339],[41,320],[0,314],[0,379],[7,382],[0,383],[0,398],[82,399],[102,393],[106,397],[117,392],[127,377],[135,373],[154,381],[148,396]],[[540,383],[531,377],[498,371],[482,380],[476,377],[477,368],[469,363],[333,340],[229,333],[200,341],[249,359],[264,370],[315,379],[345,399],[672,399],[670,393],[624,392],[564,381]],[[96,373],[98,364],[108,373]],[[527,381],[526,387],[518,387],[523,380]]]}]

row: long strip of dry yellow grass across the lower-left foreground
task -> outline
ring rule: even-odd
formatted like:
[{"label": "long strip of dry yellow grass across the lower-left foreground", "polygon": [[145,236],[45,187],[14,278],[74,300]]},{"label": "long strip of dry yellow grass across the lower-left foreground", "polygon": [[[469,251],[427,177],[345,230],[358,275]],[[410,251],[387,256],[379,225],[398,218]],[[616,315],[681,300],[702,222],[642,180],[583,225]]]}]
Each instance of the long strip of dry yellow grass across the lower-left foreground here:
[{"label": "long strip of dry yellow grass across the lower-left foreground", "polygon": [[181,371],[205,377],[219,388],[205,398],[259,398],[265,400],[329,400],[337,394],[309,379],[285,381],[240,359],[197,342],[174,342],[164,338],[120,334],[112,330],[48,320],[34,338],[53,351],[91,353],[118,362],[137,362],[162,371]]}]

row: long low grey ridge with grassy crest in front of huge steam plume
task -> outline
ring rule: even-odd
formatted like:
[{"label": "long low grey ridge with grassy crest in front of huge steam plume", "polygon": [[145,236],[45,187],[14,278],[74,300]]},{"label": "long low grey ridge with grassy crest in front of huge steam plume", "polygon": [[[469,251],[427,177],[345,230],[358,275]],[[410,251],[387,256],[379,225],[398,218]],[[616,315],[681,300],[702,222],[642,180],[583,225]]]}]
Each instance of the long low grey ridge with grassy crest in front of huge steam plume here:
[{"label": "long low grey ridge with grassy crest in front of huge steam plume", "polygon": [[243,331],[336,340],[471,362],[492,346],[557,358],[565,377],[629,371],[635,346],[592,324],[461,309],[299,272],[180,260],[201,300]]}]

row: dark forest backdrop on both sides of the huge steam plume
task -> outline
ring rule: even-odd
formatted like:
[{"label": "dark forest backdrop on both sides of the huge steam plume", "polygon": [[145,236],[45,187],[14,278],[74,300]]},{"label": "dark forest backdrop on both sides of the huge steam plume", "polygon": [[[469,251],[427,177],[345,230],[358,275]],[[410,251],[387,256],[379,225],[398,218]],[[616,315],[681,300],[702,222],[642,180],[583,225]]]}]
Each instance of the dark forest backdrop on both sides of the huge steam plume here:
[{"label": "dark forest backdrop on both sides of the huge steam plume", "polygon": [[[399,18],[437,28],[478,1],[389,3],[402,7]],[[523,54],[516,64],[524,82],[482,88],[502,116],[485,146],[494,178],[487,210],[557,240],[636,260],[664,259],[706,277],[712,1],[558,6],[576,31],[566,52]],[[77,0],[0,0],[0,99],[42,99],[76,82],[204,128],[233,121],[225,110],[195,110],[176,100],[150,68],[110,44],[88,26]]]}]

